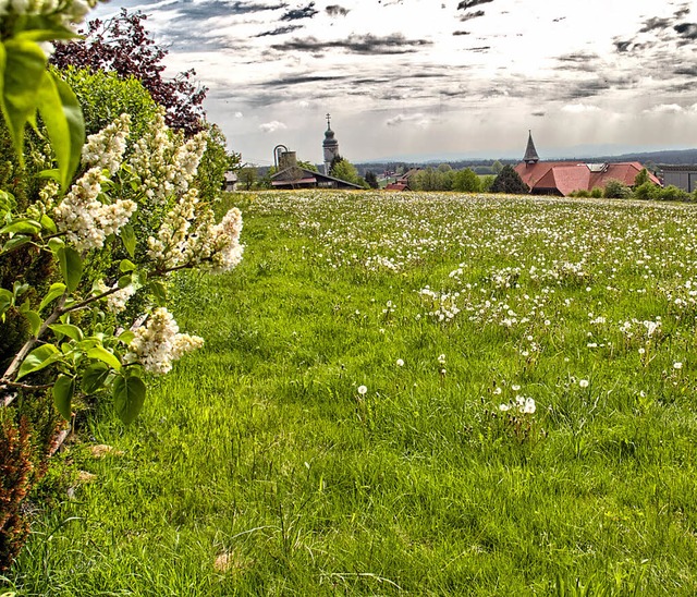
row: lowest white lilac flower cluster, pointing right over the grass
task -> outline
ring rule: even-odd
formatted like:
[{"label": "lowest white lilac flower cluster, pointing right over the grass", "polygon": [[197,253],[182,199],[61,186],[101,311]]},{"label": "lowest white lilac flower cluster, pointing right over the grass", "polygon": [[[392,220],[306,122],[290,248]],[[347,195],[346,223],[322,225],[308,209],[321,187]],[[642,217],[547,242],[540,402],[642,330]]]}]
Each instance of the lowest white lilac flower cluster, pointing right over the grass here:
[{"label": "lowest white lilac flower cluster, pointing right over the grass", "polygon": [[204,339],[187,333],[179,333],[179,326],[172,314],[164,307],[157,308],[147,325],[135,330],[135,338],[129,344],[126,361],[138,362],[146,371],[162,375],[172,369],[172,362],[183,354],[199,349]]}]

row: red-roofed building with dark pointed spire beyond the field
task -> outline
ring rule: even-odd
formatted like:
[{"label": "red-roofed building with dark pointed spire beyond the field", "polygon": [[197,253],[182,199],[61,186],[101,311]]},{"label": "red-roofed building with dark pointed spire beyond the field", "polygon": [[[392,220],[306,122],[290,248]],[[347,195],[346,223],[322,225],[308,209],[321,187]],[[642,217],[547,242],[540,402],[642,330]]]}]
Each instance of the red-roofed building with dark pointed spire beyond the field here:
[{"label": "red-roofed building with dark pointed spire beyond the field", "polygon": [[[568,195],[574,191],[604,188],[610,180],[634,185],[636,175],[644,169],[638,161],[584,163],[579,161],[541,161],[537,155],[533,133],[529,132],[525,156],[516,167],[523,182],[536,195]],[[651,173],[649,180],[661,184]]]}]

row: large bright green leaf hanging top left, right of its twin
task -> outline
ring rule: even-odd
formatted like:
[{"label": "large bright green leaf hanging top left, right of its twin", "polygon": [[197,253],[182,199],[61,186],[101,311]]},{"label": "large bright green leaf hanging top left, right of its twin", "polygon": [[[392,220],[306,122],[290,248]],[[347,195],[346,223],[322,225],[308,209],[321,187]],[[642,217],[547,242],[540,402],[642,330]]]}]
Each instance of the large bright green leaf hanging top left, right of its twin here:
[{"label": "large bright green leaf hanging top left, right of its twin", "polygon": [[85,143],[83,111],[70,86],[49,72],[44,73],[37,103],[56,154],[61,186],[65,190],[80,166]]}]

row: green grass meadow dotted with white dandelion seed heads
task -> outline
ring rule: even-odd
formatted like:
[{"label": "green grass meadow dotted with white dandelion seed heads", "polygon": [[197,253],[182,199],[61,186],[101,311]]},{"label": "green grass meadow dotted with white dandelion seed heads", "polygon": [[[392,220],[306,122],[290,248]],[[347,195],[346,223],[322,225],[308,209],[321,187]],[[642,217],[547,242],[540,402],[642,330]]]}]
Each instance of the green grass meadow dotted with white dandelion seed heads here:
[{"label": "green grass meadow dotted with white dandelion seed heads", "polygon": [[227,200],[243,265],[174,289],[206,348],[61,456],[96,477],[7,590],[697,594],[696,207]]}]

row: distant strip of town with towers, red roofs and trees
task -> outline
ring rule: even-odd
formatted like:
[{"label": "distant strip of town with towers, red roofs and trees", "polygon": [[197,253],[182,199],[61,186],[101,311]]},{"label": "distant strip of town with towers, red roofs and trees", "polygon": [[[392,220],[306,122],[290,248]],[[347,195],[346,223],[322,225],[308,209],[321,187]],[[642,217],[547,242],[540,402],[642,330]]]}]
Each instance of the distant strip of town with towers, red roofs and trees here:
[{"label": "distant strip of town with towers, red roofs and trees", "polygon": [[697,192],[697,149],[542,159],[528,131],[519,160],[352,163],[340,153],[331,115],[326,118],[322,163],[304,161],[279,144],[272,150],[273,166],[243,166],[229,173],[227,188],[381,188],[655,199],[692,199]]}]

